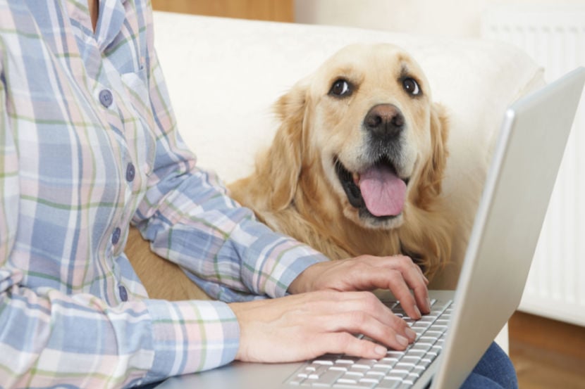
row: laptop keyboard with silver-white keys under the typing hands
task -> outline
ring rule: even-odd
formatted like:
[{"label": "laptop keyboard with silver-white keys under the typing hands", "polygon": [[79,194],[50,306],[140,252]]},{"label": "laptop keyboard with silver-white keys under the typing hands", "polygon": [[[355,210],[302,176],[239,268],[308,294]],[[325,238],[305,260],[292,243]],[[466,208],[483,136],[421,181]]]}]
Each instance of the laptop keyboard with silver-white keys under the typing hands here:
[{"label": "laptop keyboard with silver-white keys under the typing hands", "polygon": [[316,388],[411,388],[443,349],[452,301],[431,300],[431,313],[419,320],[407,317],[397,301],[385,303],[417,333],[417,340],[405,351],[388,350],[382,359],[324,355],[305,362],[285,383]]}]

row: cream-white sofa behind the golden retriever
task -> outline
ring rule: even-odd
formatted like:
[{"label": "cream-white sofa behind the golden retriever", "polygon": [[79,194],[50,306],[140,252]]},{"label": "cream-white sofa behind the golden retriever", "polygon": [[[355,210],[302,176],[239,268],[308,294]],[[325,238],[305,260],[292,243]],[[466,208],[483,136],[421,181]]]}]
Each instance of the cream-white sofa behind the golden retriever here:
[{"label": "cream-white sofa behind the golden retriever", "polygon": [[[390,42],[412,53],[431,83],[433,101],[449,113],[443,194],[457,215],[460,239],[452,265],[433,287],[455,288],[505,108],[543,83],[531,58],[487,40],[159,11],[154,29],[179,132],[199,166],[225,182],[249,174],[257,151],[271,142],[276,99],[333,52],[356,42]],[[136,236],[130,235],[129,250]]]}]

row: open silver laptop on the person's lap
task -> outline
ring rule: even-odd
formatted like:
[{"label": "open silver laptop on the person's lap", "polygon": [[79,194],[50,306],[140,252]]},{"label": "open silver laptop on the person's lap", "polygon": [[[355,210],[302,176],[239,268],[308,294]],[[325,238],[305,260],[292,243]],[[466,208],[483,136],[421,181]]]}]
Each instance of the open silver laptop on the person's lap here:
[{"label": "open silver laptop on the person's lap", "polygon": [[[421,333],[409,347],[417,349],[421,343],[430,348],[431,357],[424,357],[424,368],[409,370],[404,362],[394,364],[393,359],[402,352],[390,350],[387,358],[379,361],[326,355],[292,364],[233,362],[211,371],[168,378],[157,388],[327,388],[330,383],[317,381],[317,372],[333,366],[337,370],[327,370],[327,377],[346,378],[335,378],[329,385],[332,388],[459,388],[522,298],[584,82],[585,68],[577,68],[521,98],[505,112],[457,289],[429,291],[436,302],[433,311],[437,306],[447,319],[440,317],[440,325],[433,324],[436,330],[430,332],[438,333],[436,340]],[[387,300],[383,294],[379,297]],[[393,310],[399,308],[395,305]],[[347,372],[357,364],[360,369],[377,364],[378,370],[368,373],[369,379],[353,383]],[[390,364],[394,367],[388,368]],[[384,369],[380,366],[402,374],[405,381],[381,377]]]}]

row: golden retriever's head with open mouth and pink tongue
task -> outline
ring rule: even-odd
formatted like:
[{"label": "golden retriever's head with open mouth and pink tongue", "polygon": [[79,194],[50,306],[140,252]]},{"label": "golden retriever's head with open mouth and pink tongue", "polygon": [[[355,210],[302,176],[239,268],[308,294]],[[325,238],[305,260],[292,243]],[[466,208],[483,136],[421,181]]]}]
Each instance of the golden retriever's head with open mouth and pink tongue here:
[{"label": "golden retriever's head with open mouth and pink tongue", "polygon": [[283,155],[272,163],[282,184],[272,184],[284,194],[276,206],[292,200],[301,180],[313,186],[302,189],[314,192],[307,196],[333,198],[329,203],[358,225],[391,229],[410,207],[427,208],[441,192],[445,115],[419,65],[396,46],[341,49],[276,111]]}]

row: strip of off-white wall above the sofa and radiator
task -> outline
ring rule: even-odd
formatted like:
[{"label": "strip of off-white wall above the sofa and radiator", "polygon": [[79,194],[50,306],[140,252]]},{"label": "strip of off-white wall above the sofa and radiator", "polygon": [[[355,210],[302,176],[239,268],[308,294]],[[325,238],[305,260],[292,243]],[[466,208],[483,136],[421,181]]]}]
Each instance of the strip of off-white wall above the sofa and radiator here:
[{"label": "strip of off-white wall above the sofa and radiator", "polygon": [[295,0],[297,23],[345,25],[410,34],[479,37],[491,6],[560,7],[585,0]]}]

